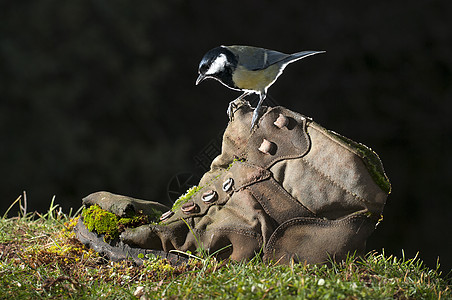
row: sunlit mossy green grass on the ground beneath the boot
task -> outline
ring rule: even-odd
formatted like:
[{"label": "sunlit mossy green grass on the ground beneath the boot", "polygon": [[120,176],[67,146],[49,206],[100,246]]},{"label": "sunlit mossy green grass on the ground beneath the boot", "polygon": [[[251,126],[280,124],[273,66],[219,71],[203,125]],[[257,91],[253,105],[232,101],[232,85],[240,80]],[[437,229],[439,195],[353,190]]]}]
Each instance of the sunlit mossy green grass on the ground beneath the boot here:
[{"label": "sunlit mossy green grass on the ground beneath the boot", "polygon": [[[113,263],[86,249],[71,227],[78,213],[0,219],[1,299],[451,299],[450,279],[415,258],[370,252],[331,266],[194,258],[171,266]],[[135,295],[138,296],[135,297]]]}]

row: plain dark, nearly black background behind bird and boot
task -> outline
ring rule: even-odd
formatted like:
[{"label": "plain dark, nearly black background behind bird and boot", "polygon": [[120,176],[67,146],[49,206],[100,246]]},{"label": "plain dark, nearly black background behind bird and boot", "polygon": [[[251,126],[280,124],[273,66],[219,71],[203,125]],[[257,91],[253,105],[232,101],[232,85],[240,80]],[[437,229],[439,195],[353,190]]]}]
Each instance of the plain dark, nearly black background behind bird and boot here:
[{"label": "plain dark, nearly black background behind bird and boot", "polygon": [[[168,201],[239,93],[195,86],[203,54],[327,50],[290,65],[275,103],[373,148],[392,181],[369,249],[452,266],[451,1],[2,1],[3,214],[94,191]],[[17,212],[17,210],[16,210]],[[10,215],[14,215],[14,210]]]}]

